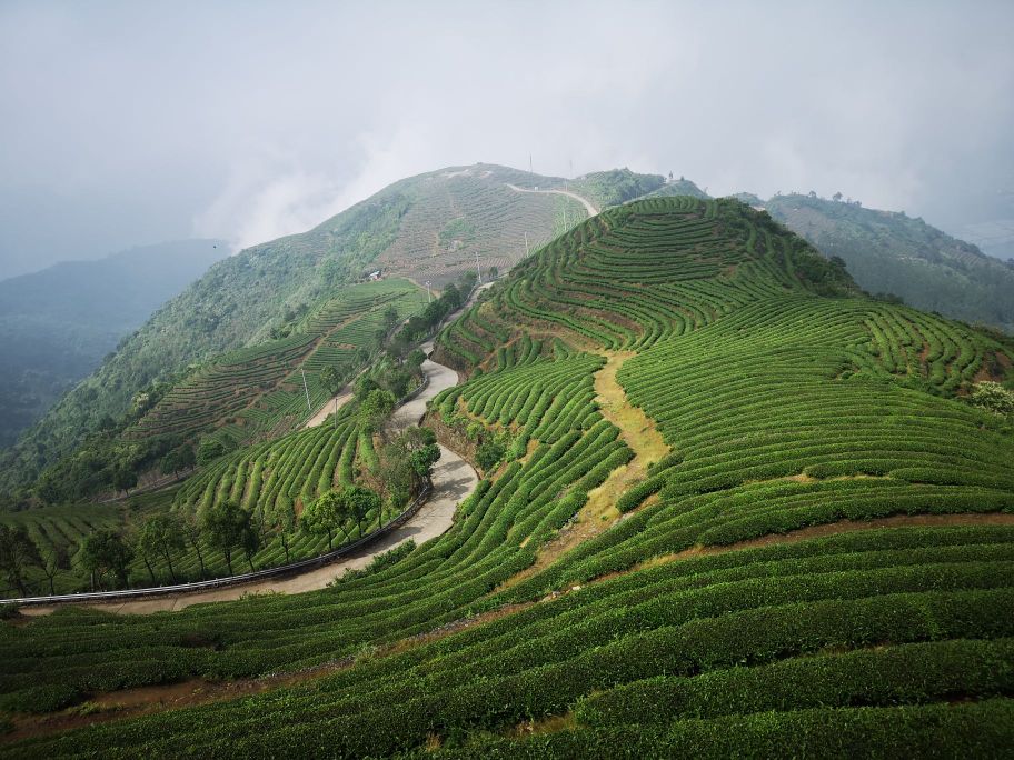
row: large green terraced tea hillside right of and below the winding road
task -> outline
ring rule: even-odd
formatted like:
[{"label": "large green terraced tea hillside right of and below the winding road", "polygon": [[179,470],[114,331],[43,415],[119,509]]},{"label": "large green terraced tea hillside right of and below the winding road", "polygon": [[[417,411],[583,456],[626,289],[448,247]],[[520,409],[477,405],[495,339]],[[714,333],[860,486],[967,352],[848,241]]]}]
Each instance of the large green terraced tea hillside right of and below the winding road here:
[{"label": "large green terraced tea hillside right of and below the winding road", "polygon": [[1008,343],[677,196],[556,238],[434,358],[466,380],[426,423],[483,472],[446,533],[310,593],[12,611],[0,752],[1008,751]]}]

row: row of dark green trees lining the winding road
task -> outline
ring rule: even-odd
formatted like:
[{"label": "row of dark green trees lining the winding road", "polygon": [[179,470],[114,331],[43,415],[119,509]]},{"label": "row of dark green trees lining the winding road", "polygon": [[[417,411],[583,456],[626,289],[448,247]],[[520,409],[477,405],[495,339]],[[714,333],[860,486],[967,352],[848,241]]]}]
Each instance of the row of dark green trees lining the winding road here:
[{"label": "row of dark green trees lining the winding road", "polygon": [[[394,411],[397,399],[422,381],[421,368],[426,356],[411,347],[465,302],[475,279],[475,274],[469,272],[457,284],[448,284],[439,298],[409,318],[397,332],[397,310],[389,308],[385,312],[384,327],[377,330],[372,347],[376,361],[370,369],[358,374],[354,383],[359,424],[367,434],[379,436],[382,443],[379,464],[374,473],[377,490],[352,484],[327,491],[306,506],[298,521],[292,519],[277,526],[286,562],[291,561],[289,547],[299,530],[326,533],[328,547],[332,548],[335,533],[341,526],[355,522],[358,534],[362,536],[364,521],[369,514],[376,513],[379,527],[385,507],[389,513],[397,512],[430,484],[433,466],[440,458],[433,431],[409,428],[388,438],[384,423]],[[365,362],[368,358],[364,356],[361,359]],[[337,396],[351,378],[335,367],[326,367],[320,379],[328,391]],[[178,443],[163,449],[163,452],[160,469],[166,474],[179,474],[225,453],[221,449],[212,450],[209,441],[202,441],[198,452],[188,443]],[[138,482],[136,469],[115,468],[111,480],[117,490],[129,492]],[[250,512],[233,502],[222,501],[200,516],[156,514],[128,532],[96,530],[81,541],[71,557],[66,546],[40,548],[23,528],[0,526],[0,571],[19,596],[31,592],[29,577],[32,571],[41,571],[48,580],[49,593],[54,593],[56,578],[74,568],[88,580],[92,590],[122,588],[128,584],[135,559],[141,560],[152,586],[158,583],[156,566],[162,563],[175,583],[180,580],[176,560],[186,551],[195,552],[200,578],[205,579],[205,552],[210,549],[221,552],[229,574],[233,574],[233,559],[238,553],[254,570],[255,554],[270,538],[265,534],[264,528],[256,523]]]}]

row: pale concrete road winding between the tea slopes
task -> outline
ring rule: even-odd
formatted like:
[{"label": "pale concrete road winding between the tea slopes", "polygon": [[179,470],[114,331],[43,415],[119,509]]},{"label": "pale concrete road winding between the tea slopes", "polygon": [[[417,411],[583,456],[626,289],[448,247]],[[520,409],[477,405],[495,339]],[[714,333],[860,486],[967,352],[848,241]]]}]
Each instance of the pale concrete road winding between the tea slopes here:
[{"label": "pale concrete road winding between the tea slopes", "polygon": [[[433,344],[422,346],[429,354]],[[426,413],[426,403],[446,388],[458,383],[458,373],[449,367],[438,364],[427,359],[422,362],[422,371],[429,378],[429,383],[418,397],[395,410],[392,427],[404,429],[417,424]],[[331,402],[334,406],[334,401]],[[389,551],[395,547],[412,539],[417,544],[447,532],[454,524],[454,516],[458,502],[475,490],[479,479],[471,466],[450,449],[440,447],[440,460],[434,467],[433,492],[419,511],[404,526],[392,530],[376,543],[364,547],[361,551],[344,557],[332,564],[309,570],[299,576],[289,578],[267,579],[251,583],[238,583],[220,589],[208,589],[192,593],[176,596],[152,597],[151,599],[132,599],[125,602],[92,603],[87,607],[117,612],[121,614],[143,614],[148,612],[176,611],[191,604],[202,604],[212,601],[229,601],[239,599],[249,593],[299,593],[322,589],[335,578],[348,569],[358,570],[369,564],[370,560],[379,553]],[[23,607],[22,614],[48,614],[54,607]]]}]

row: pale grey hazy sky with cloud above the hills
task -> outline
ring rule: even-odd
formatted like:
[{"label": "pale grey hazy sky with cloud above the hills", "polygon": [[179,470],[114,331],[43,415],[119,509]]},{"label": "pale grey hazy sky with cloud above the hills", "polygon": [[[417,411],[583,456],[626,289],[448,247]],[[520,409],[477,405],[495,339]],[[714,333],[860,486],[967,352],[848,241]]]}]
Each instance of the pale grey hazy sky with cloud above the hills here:
[{"label": "pale grey hazy sky with cloud above the hills", "polygon": [[2,1],[0,278],[529,153],[1014,218],[1012,30],[1012,2]]}]

